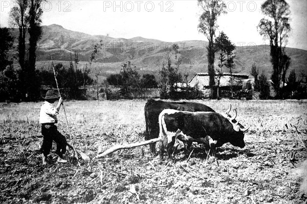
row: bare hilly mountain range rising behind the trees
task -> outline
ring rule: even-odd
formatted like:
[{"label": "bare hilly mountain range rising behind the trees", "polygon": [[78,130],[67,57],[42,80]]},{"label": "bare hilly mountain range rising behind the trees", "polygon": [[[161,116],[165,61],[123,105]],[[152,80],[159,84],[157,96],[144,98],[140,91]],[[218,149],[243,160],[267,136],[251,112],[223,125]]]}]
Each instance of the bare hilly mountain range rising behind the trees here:
[{"label": "bare hilly mountain range rising behind the trees", "polygon": [[[130,61],[140,74],[153,74],[158,77],[159,70],[165,63],[164,48],[172,44],[178,44],[179,57],[182,64],[179,71],[189,73],[191,78],[197,72],[207,72],[207,42],[203,40],[188,40],[181,42],[163,42],[158,39],[147,39],[134,37],[130,39],[113,38],[105,35],[90,35],[86,33],[71,31],[60,25],[50,25],[42,27],[42,36],[37,48],[37,69],[51,68],[51,56],[54,63],[69,64],[69,60],[74,60],[75,52],[79,55],[79,65],[81,69],[89,64],[90,56],[94,45],[102,40],[101,50],[93,60],[91,69],[100,70],[100,78],[103,79],[110,74],[119,73],[121,65]],[[17,47],[18,30],[12,31],[15,37],[15,48]],[[28,37],[26,37],[28,39]],[[205,38],[205,36],[204,36]],[[230,39],[231,40],[231,39]],[[12,50],[17,54],[16,49]],[[286,53],[291,57],[291,65],[288,71],[294,69],[297,77],[301,73],[307,74],[307,51],[295,48],[286,48]],[[270,61],[270,46],[242,46],[235,50],[234,73],[250,74],[253,63],[259,69],[259,74],[264,71],[268,78],[272,73]],[[215,54],[216,69],[218,64],[218,53]],[[16,64],[17,65],[17,64]],[[228,72],[223,68],[223,72]],[[252,77],[250,75],[250,77]]]}]

